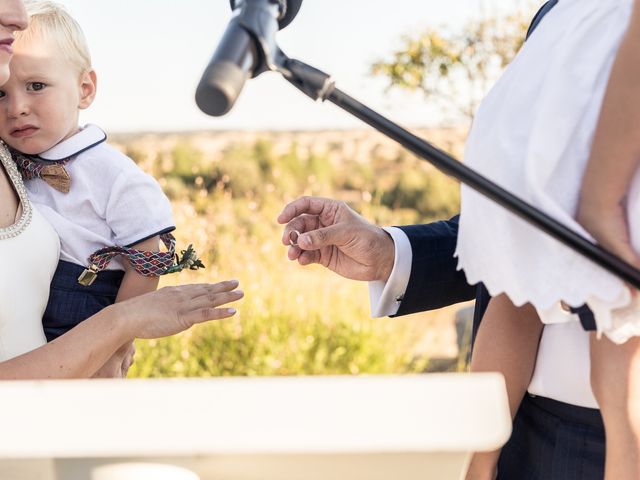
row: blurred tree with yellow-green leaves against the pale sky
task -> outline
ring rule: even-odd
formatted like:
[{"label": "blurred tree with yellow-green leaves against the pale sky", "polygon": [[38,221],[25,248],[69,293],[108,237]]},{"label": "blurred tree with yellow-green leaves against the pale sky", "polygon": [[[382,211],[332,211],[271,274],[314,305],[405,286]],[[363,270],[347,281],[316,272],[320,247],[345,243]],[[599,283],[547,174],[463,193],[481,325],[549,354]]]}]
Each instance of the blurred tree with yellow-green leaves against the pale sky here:
[{"label": "blurred tree with yellow-green leaves against the pale sky", "polygon": [[461,32],[428,29],[404,37],[390,61],[374,63],[374,75],[388,88],[420,91],[443,109],[445,117],[471,122],[480,101],[522,46],[524,15],[472,21]]}]

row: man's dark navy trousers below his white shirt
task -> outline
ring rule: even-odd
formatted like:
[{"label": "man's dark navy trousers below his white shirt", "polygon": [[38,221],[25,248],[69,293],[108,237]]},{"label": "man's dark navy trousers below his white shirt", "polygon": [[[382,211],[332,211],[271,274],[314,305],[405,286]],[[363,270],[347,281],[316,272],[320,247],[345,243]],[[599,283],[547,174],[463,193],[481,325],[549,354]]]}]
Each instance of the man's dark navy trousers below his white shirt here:
[{"label": "man's dark navy trousers below his white shirt", "polygon": [[602,480],[600,410],[525,395],[502,449],[498,480]]}]

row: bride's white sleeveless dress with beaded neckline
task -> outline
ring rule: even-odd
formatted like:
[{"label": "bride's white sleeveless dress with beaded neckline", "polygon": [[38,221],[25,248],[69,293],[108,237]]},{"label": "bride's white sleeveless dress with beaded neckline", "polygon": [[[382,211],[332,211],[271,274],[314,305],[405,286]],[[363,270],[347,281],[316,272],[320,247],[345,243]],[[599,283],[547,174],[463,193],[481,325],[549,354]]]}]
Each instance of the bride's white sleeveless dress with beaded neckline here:
[{"label": "bride's white sleeveless dress with beaded neckline", "polygon": [[22,214],[0,228],[0,361],[44,345],[42,314],[49,298],[49,284],[58,264],[58,236],[34,208],[4,144],[0,144],[0,168],[7,172]]}]

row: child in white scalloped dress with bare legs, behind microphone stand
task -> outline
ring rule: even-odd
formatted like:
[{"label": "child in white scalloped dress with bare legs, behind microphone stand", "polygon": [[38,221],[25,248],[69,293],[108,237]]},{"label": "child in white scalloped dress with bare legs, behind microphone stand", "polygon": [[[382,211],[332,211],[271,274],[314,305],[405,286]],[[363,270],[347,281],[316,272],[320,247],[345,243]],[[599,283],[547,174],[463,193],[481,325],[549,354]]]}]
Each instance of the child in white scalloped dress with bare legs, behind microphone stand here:
[{"label": "child in white scalloped dress with bare legs, behind microphone stand", "polygon": [[[465,163],[592,239],[577,218],[589,164],[583,198],[615,197],[621,205],[628,194],[624,213],[639,250],[639,42],[640,0],[561,0],[480,106]],[[589,215],[594,231],[613,217],[598,213]],[[456,255],[467,280],[482,282],[493,297],[472,371],[505,375],[513,415],[532,379],[543,323],[577,322],[570,308],[591,309],[591,386],[607,436],[605,478],[640,478],[640,303],[629,289],[465,186]],[[498,454],[476,455],[467,478],[494,478]]]}]

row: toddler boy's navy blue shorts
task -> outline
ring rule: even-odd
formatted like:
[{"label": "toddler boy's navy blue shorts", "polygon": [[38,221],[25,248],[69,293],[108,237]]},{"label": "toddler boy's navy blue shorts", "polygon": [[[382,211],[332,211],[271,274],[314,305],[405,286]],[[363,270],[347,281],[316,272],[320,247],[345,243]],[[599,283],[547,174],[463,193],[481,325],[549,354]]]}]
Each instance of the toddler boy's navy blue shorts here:
[{"label": "toddler boy's navy blue shorts", "polygon": [[116,301],[124,272],[104,270],[98,273],[92,285],[84,286],[78,283],[84,269],[70,262],[58,263],[42,318],[48,342]]}]

